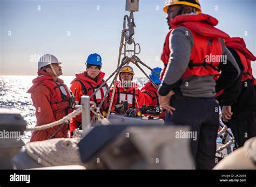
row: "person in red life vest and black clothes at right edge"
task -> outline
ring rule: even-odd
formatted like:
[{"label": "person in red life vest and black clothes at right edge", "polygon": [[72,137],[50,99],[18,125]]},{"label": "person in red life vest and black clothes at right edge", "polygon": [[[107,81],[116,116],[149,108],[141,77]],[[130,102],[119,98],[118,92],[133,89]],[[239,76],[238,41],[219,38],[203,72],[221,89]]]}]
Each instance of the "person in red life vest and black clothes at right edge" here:
[{"label": "person in red life vest and black clothes at right edge", "polygon": [[[256,136],[256,93],[253,87],[251,61],[256,57],[246,48],[242,38],[230,38],[225,40],[226,47],[233,54],[242,72],[239,83],[226,89],[220,98],[222,117],[231,128],[238,147],[244,146],[246,140]],[[241,91],[241,92],[239,92]],[[240,93],[234,95],[234,93]],[[228,102],[232,97],[235,103]]]}]

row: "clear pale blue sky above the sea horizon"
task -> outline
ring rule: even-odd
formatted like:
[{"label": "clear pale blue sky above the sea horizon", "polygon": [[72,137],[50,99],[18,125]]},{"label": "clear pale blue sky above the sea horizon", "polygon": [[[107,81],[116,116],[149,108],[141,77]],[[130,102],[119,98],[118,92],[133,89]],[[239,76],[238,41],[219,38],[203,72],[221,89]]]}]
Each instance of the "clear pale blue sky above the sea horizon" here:
[{"label": "clear pale blue sky above the sea horizon", "polygon": [[[168,30],[164,0],[139,0],[134,13],[137,56],[150,67],[163,67],[160,54]],[[244,38],[256,55],[256,1],[199,0],[203,13],[219,20],[218,28],[231,37]],[[44,54],[63,62],[63,75],[85,70],[91,53],[103,59],[102,71],[117,67],[125,0],[31,1],[0,0],[0,75],[36,75]],[[256,76],[256,61],[252,62]],[[134,68],[137,76],[142,76]],[[144,68],[146,73],[149,70]]]}]

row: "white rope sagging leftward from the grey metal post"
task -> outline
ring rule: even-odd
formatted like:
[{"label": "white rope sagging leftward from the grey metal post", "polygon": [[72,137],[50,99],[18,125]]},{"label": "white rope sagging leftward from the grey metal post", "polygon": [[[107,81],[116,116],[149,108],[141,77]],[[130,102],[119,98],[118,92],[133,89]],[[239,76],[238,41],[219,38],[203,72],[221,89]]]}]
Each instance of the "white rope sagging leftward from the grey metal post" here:
[{"label": "white rope sagging leftward from the grey metal post", "polygon": [[80,106],[78,107],[78,109],[74,110],[73,112],[71,112],[70,114],[68,114],[68,116],[64,116],[62,119],[58,120],[58,121],[54,121],[50,124],[46,124],[46,125],[41,125],[41,126],[36,126],[33,128],[26,128],[26,131],[40,131],[40,130],[45,130],[46,128],[51,128],[63,123],[69,123],[69,120],[78,116],[78,114],[82,113],[83,107]]}]

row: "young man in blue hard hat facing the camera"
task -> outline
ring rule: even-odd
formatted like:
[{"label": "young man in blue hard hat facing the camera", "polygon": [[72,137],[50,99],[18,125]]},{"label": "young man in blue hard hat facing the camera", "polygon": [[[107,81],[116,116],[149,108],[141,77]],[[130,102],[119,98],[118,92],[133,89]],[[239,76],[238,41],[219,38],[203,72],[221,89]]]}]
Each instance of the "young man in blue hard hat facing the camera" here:
[{"label": "young man in blue hard hat facing the camera", "polygon": [[[76,78],[70,83],[71,84],[71,91],[75,95],[76,104],[81,104],[81,97],[83,95],[91,96],[96,89],[99,88],[100,85],[104,82],[105,73],[100,71],[102,69],[102,57],[97,54],[93,53],[87,57],[86,60],[86,71],[82,73],[76,74]],[[95,102],[97,106],[102,101],[105,93],[107,92],[108,86],[105,83],[102,88],[100,88],[96,94],[91,97],[91,101]],[[108,109],[108,101],[109,96],[107,96],[104,100],[104,103],[100,109],[101,112],[106,111]],[[70,123],[70,133],[71,136],[73,135],[73,131],[76,128],[82,128],[82,118],[81,115],[73,118]]]}]

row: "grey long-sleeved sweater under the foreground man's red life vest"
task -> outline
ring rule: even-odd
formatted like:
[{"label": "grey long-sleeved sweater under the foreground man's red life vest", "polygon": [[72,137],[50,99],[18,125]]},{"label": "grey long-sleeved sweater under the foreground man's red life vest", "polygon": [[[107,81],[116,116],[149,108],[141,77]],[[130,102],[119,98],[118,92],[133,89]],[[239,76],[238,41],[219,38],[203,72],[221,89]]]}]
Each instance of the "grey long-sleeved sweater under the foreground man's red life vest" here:
[{"label": "grey long-sleeved sweater under the foreground man's red life vest", "polygon": [[[216,82],[213,80],[212,75],[200,77],[190,76],[181,80],[190,62],[191,51],[194,45],[191,32],[185,27],[178,27],[170,34],[169,41],[171,51],[170,59],[166,67],[163,82],[159,88],[159,95],[165,96],[170,90],[174,92],[178,90],[185,97],[214,97],[216,94]],[[240,69],[233,55],[226,48],[223,39],[221,39],[221,45],[223,55],[226,55],[226,63],[228,63],[228,66],[234,67],[233,74],[235,75],[229,82],[231,84],[240,74]],[[221,70],[225,71],[225,69]],[[226,85],[223,85],[223,87],[226,87]]]}]

